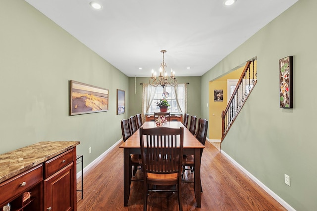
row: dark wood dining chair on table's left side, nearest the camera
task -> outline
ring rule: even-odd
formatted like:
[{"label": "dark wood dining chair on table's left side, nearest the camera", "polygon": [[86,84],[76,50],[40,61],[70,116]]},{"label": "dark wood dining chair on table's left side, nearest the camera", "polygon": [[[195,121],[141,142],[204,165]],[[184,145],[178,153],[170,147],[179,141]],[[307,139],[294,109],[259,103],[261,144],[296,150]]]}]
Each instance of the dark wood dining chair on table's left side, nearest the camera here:
[{"label": "dark wood dining chair on table's left side, nearest the camera", "polygon": [[[132,135],[132,130],[130,127],[130,120],[129,119],[121,120],[121,132],[122,132],[123,142],[125,142]],[[138,166],[141,165],[140,164],[141,155],[131,154],[130,157],[131,157],[131,167],[133,166],[132,176],[134,177],[136,172],[137,172]],[[130,178],[130,180],[131,180],[131,178]]]}]

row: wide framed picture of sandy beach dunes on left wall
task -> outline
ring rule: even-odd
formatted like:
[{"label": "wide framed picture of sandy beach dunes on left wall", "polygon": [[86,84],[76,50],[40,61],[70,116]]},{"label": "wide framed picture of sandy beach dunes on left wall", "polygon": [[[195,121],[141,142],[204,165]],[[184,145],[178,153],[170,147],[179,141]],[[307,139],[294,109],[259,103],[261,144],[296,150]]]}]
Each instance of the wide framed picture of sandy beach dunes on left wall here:
[{"label": "wide framed picture of sandy beach dunes on left wall", "polygon": [[108,111],[108,96],[106,88],[71,80],[69,115]]}]

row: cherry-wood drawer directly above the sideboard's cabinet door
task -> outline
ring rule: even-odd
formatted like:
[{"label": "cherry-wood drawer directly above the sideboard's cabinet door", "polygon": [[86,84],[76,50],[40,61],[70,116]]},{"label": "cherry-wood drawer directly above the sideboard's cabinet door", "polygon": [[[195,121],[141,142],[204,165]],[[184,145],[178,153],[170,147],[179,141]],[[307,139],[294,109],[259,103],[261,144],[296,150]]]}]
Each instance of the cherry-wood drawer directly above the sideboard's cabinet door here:
[{"label": "cherry-wood drawer directly above the sideboard's cabinet door", "polygon": [[74,161],[74,149],[68,150],[45,162],[45,178],[64,168]]}]

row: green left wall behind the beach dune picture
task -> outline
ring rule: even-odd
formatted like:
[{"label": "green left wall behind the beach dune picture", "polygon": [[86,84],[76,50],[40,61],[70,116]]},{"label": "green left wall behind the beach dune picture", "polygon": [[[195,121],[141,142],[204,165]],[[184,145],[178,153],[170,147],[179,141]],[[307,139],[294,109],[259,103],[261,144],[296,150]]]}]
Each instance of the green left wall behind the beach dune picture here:
[{"label": "green left wall behind the beach dune picture", "polygon": [[[87,166],[120,140],[116,89],[127,76],[24,0],[0,1],[0,26],[0,153],[78,140]],[[69,116],[69,80],[109,89],[109,110]]]}]

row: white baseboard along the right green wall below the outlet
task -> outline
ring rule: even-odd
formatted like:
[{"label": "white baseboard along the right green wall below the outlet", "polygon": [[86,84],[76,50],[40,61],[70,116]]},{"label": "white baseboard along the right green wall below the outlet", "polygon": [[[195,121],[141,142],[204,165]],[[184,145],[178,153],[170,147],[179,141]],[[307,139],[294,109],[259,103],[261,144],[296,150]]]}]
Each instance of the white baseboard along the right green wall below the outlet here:
[{"label": "white baseboard along the right green wall below the outlet", "polygon": [[266,193],[268,193],[271,197],[273,197],[278,203],[280,203],[286,210],[288,211],[296,211],[289,204],[287,204],[281,197],[271,191],[268,187],[266,187],[259,179],[257,179],[254,175],[252,175],[247,169],[244,169],[240,164],[238,164],[235,160],[233,160],[227,153],[221,150],[221,153],[227,157],[234,165],[236,165],[239,169],[241,169],[245,174],[247,174],[253,181],[255,181]]}]

